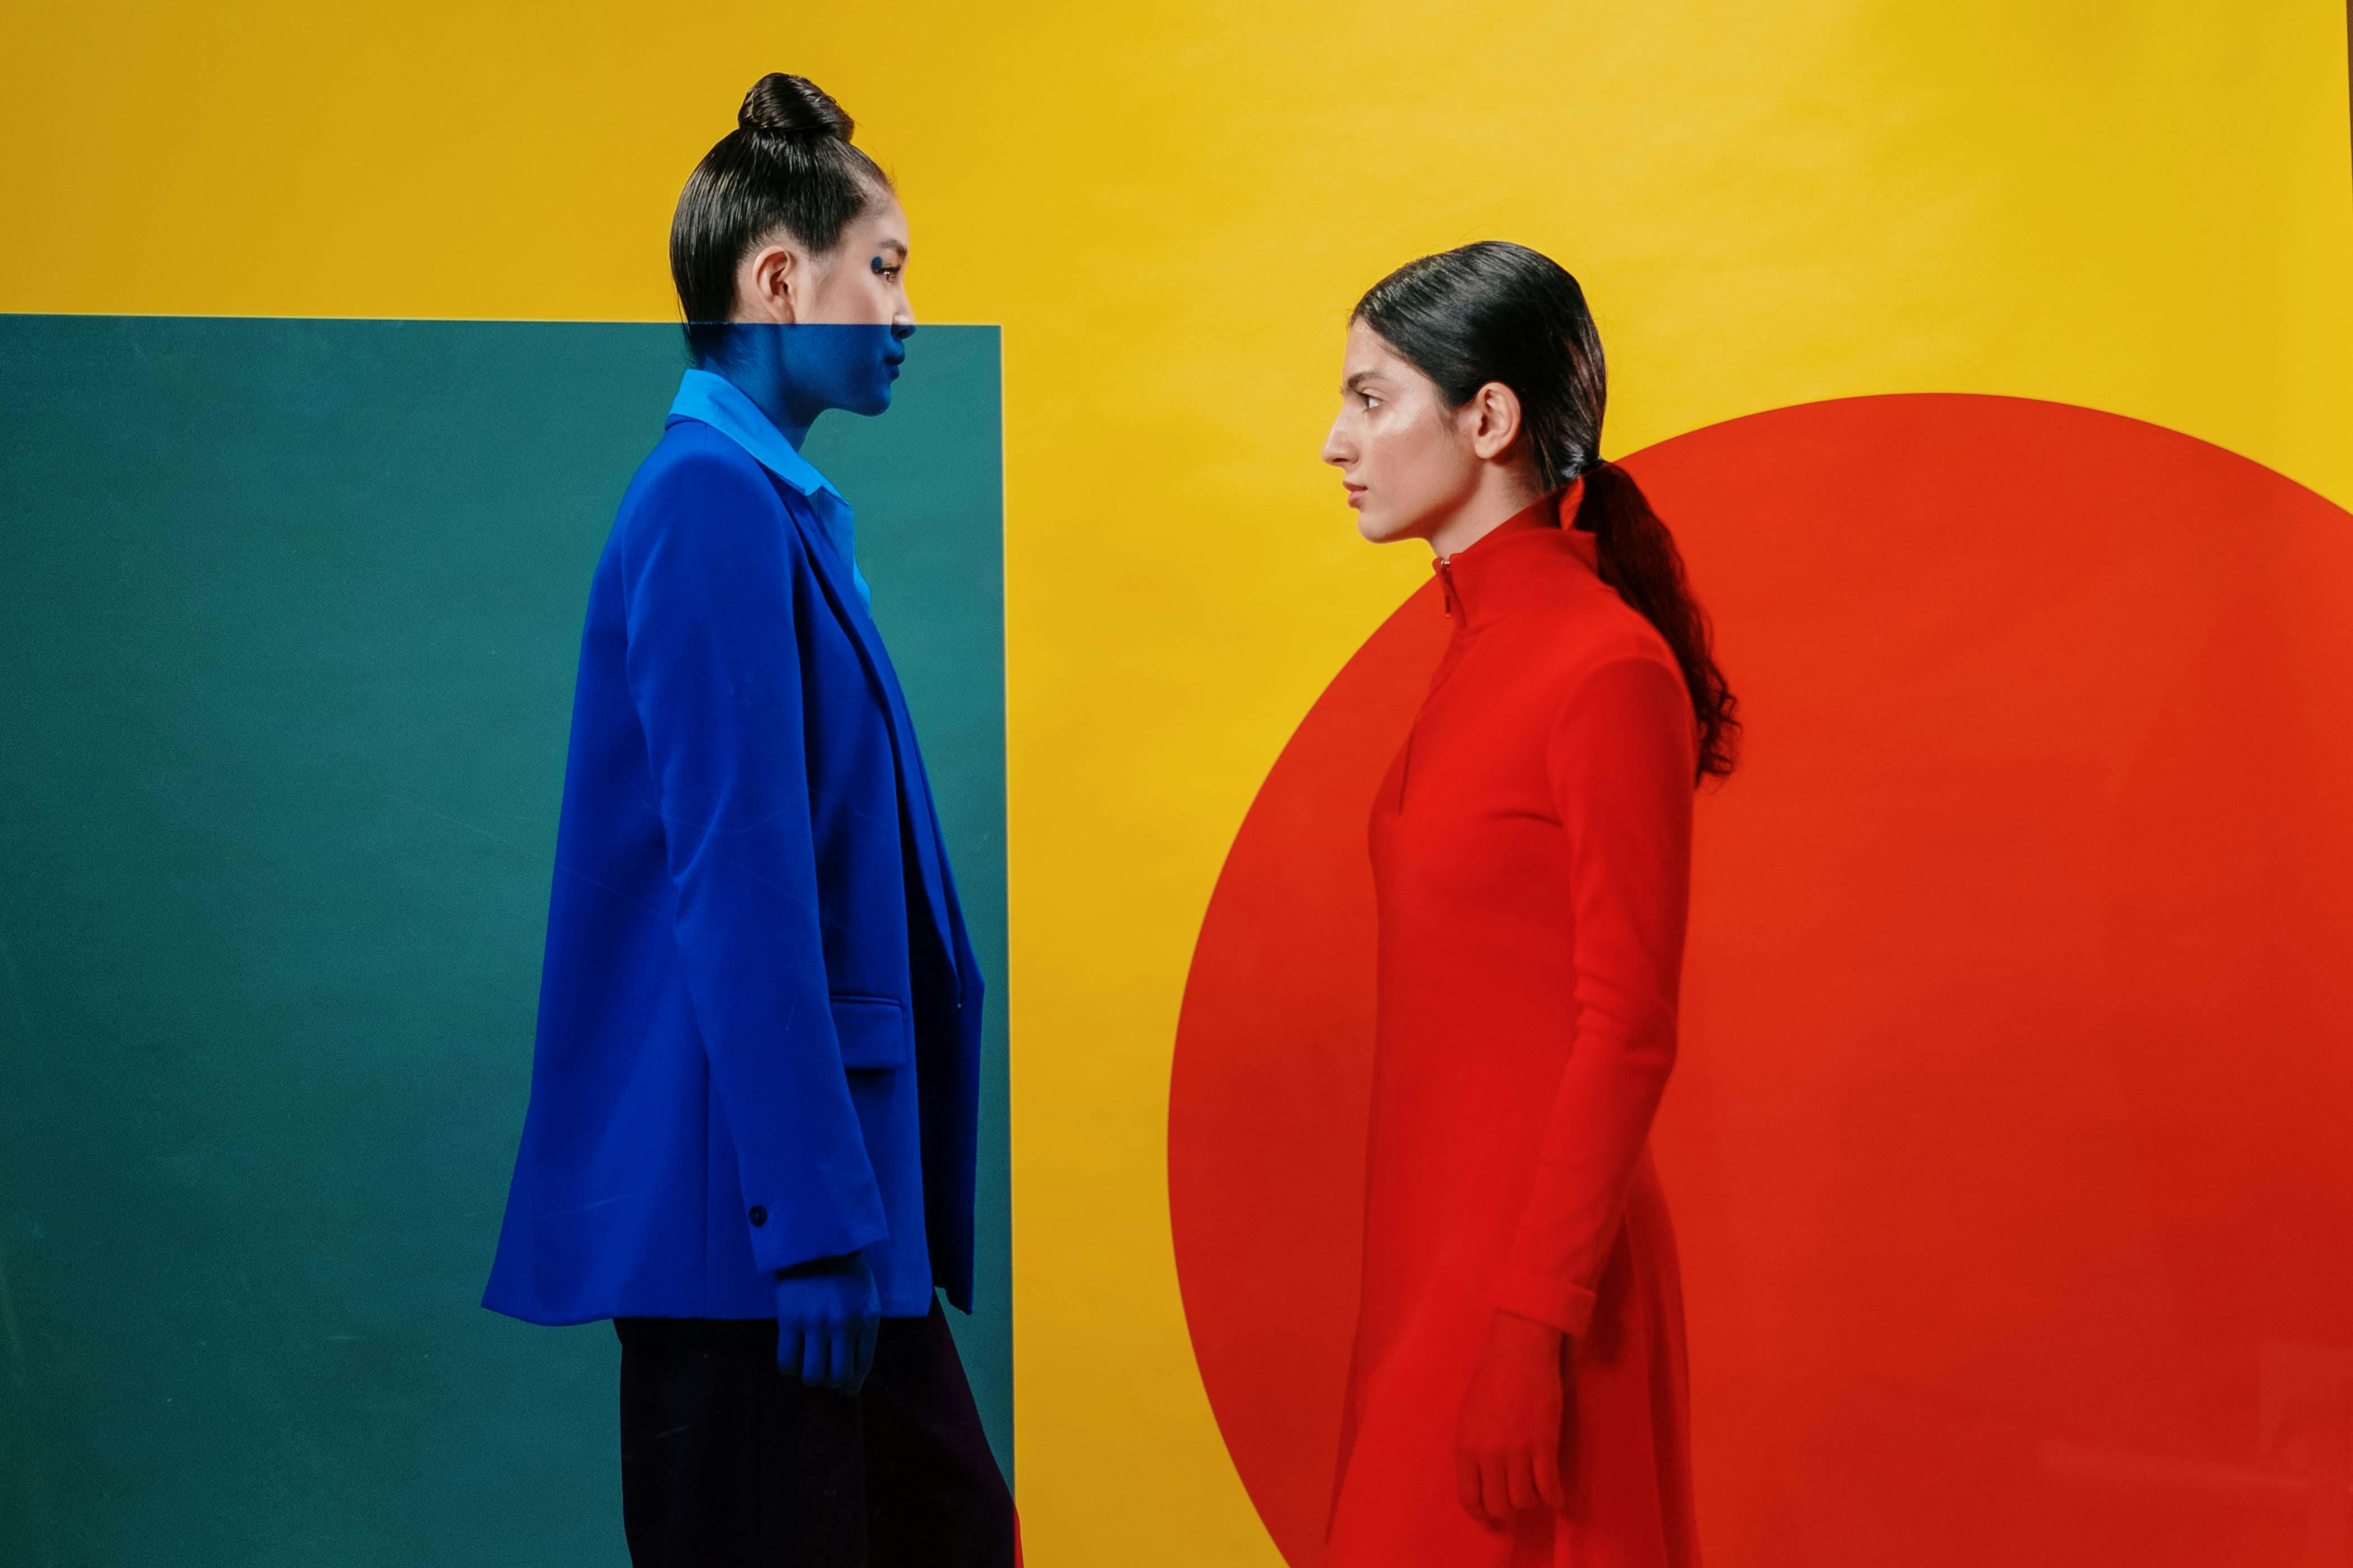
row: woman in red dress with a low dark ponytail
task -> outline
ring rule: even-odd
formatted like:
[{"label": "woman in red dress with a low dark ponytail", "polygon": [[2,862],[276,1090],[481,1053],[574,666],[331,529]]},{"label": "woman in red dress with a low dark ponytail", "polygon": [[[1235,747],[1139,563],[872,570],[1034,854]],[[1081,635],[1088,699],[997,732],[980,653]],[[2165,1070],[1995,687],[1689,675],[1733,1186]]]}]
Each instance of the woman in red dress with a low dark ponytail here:
[{"label": "woman in red dress with a low dark ponytail", "polygon": [[1692,792],[1737,719],[1666,527],[1598,458],[1577,280],[1518,244],[1355,308],[1325,442],[1454,637],[1372,811],[1379,1032],[1329,1568],[1689,1568],[1649,1121]]}]

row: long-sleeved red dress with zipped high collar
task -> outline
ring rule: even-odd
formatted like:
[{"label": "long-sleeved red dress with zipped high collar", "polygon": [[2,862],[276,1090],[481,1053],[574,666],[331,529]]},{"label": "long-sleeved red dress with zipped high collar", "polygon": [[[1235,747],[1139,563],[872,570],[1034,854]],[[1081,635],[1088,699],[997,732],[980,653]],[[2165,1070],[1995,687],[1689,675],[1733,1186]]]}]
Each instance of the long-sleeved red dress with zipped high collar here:
[{"label": "long-sleeved red dress with zipped high collar", "polygon": [[[1329,1568],[1689,1568],[1682,1293],[1649,1121],[1675,1058],[1697,724],[1562,527],[1438,571],[1454,639],[1372,809],[1379,1030]],[[1457,1502],[1497,1307],[1577,1335],[1565,1516]]]}]

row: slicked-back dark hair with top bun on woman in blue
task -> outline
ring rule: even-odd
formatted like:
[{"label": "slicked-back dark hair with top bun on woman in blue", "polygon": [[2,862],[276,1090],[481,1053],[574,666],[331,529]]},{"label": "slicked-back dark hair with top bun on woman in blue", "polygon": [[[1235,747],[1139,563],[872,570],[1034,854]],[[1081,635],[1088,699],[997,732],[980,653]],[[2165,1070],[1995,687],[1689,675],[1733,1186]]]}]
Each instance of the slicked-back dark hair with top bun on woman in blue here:
[{"label": "slicked-back dark hair with top bun on woman in blue", "polygon": [[671,282],[701,364],[727,341],[734,277],[753,244],[784,228],[812,256],[892,183],[849,146],[856,125],[805,75],[772,71],[744,94],[736,127],[704,153],[671,219]]}]

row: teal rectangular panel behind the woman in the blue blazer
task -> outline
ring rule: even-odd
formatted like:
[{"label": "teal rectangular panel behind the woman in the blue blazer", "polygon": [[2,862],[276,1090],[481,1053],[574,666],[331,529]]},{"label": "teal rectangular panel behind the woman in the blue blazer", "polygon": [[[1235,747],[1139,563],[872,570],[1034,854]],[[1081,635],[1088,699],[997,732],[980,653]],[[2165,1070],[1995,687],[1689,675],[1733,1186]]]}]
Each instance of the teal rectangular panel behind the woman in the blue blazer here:
[{"label": "teal rectangular panel behind the woman in the blue blazer", "polygon": [[[809,454],[993,980],[955,1326],[1009,1467],[998,336],[911,350]],[[0,317],[0,1561],[626,1561],[609,1326],[475,1302],[588,574],[678,367]]]}]

